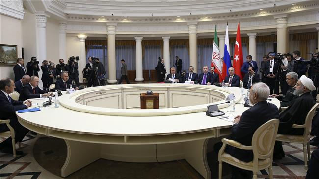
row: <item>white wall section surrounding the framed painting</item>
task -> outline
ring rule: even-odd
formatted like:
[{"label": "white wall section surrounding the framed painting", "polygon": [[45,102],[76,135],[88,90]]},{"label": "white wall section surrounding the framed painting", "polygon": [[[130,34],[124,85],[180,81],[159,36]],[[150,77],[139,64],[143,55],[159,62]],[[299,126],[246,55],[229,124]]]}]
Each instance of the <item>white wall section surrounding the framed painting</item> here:
[{"label": "white wall section surrounding the framed painting", "polygon": [[[0,44],[18,45],[18,57],[22,56],[21,20],[0,14]],[[14,79],[13,66],[0,66],[0,79]]]}]

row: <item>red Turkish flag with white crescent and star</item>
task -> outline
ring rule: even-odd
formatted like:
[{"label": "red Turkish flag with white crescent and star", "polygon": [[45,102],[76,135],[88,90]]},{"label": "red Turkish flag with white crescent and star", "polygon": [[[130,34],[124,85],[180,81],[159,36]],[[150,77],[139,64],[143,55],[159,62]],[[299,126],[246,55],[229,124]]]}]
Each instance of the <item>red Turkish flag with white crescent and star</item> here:
[{"label": "red Turkish flag with white crescent and star", "polygon": [[240,36],[240,23],[237,26],[237,35],[236,35],[236,42],[234,48],[234,60],[233,60],[233,67],[235,69],[235,74],[243,79],[243,75],[241,75],[241,66],[244,64],[244,60],[242,57],[242,48],[241,48],[241,36]]}]

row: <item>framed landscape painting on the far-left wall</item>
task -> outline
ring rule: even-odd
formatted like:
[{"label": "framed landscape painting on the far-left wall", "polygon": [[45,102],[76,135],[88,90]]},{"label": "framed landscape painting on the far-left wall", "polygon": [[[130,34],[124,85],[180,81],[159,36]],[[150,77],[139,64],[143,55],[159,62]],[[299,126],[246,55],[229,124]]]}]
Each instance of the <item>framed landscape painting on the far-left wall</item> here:
[{"label": "framed landscape painting on the far-left wall", "polygon": [[0,66],[15,65],[17,58],[17,45],[0,44]]}]

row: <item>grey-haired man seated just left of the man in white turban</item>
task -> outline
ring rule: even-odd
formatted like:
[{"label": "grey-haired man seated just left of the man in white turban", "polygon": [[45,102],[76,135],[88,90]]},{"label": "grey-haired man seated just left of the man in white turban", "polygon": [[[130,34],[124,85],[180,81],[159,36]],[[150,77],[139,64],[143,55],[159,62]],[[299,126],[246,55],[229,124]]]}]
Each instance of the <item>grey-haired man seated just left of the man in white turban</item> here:
[{"label": "grey-haired man seated just left of the man in white turban", "polygon": [[271,94],[270,97],[275,97],[280,101],[280,105],[283,107],[289,106],[292,101],[298,96],[294,95],[294,86],[298,81],[298,74],[296,72],[289,72],[286,74],[286,82],[289,85],[289,89],[287,90],[285,96],[279,96],[278,94]]}]

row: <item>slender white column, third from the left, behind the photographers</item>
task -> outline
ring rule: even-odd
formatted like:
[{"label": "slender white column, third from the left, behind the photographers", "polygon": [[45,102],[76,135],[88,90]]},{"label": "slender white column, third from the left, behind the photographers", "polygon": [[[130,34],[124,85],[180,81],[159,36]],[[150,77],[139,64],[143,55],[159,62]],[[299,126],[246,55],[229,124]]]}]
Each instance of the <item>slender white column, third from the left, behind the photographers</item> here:
[{"label": "slender white column, third from the left, behind the photographers", "polygon": [[80,83],[83,83],[83,74],[81,73],[82,72],[82,69],[85,67],[86,65],[86,50],[85,50],[85,39],[86,39],[86,36],[85,35],[78,35],[78,39],[80,41],[80,55],[79,55],[79,82]]}]

